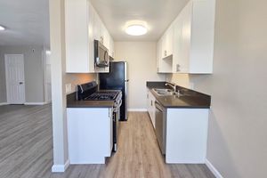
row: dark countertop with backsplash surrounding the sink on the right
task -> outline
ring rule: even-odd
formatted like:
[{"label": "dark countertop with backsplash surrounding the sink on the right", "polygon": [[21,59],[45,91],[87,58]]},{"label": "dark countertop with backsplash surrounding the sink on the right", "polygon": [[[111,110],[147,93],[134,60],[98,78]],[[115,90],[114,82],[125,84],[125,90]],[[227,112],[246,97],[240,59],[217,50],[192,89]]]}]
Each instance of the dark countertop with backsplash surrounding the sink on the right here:
[{"label": "dark countertop with backsplash surrounding the sink on the right", "polygon": [[184,108],[184,109],[209,109],[211,103],[211,96],[205,93],[198,93],[196,91],[177,86],[181,95],[159,96],[153,88],[169,88],[165,86],[166,82],[147,82],[147,87],[155,96],[156,100],[165,108]]}]

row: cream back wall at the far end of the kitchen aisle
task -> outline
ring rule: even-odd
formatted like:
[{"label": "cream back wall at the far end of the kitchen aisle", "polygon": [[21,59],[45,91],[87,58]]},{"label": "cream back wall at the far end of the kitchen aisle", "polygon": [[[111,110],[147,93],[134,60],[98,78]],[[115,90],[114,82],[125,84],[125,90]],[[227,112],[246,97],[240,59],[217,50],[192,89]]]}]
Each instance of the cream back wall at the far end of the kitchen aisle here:
[{"label": "cream back wall at the far end of the kitchen aisle", "polygon": [[128,63],[128,108],[146,109],[146,82],[166,79],[157,74],[156,42],[115,42],[115,59]]}]

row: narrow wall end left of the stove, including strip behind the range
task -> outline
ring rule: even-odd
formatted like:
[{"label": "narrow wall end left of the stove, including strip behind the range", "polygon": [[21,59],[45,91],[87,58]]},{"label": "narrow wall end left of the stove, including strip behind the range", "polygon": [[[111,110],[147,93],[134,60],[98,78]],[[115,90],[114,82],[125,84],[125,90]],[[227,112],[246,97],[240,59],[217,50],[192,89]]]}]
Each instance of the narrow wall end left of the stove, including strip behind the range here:
[{"label": "narrow wall end left of the stove, including strip behind the range", "polygon": [[95,79],[94,74],[66,74],[64,0],[50,0],[50,39],[53,101],[53,172],[68,167],[68,135],[65,84],[75,85]]}]

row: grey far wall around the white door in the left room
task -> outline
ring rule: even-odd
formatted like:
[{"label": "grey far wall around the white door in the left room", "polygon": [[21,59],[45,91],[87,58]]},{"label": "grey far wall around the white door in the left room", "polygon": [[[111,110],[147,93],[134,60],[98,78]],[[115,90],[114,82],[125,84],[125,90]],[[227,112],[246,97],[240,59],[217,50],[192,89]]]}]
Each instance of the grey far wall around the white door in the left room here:
[{"label": "grey far wall around the white door in the left room", "polygon": [[25,100],[44,102],[43,50],[43,46],[0,46],[0,102],[6,102],[4,54],[24,55]]}]

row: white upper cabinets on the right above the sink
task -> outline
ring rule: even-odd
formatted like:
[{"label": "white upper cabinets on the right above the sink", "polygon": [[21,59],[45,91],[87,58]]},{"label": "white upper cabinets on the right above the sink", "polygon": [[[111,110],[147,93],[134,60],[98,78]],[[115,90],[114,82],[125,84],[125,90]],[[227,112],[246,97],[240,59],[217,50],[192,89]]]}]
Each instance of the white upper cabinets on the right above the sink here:
[{"label": "white upper cabinets on the right above the sink", "polygon": [[[162,36],[162,57],[173,54],[173,58],[166,58],[167,62],[158,58],[158,69],[166,69],[165,73],[213,72],[214,12],[215,0],[192,0],[182,9]],[[170,29],[173,31],[168,32]],[[167,34],[172,37],[166,37]]]}]

